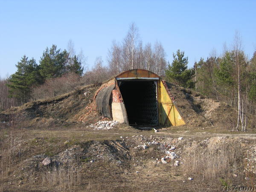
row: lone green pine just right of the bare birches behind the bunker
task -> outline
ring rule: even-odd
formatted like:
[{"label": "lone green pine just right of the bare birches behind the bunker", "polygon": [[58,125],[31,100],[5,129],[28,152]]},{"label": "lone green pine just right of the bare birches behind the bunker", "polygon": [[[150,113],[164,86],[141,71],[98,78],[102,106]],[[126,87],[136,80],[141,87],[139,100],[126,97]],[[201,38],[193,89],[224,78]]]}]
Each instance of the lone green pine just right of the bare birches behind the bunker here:
[{"label": "lone green pine just right of the bare birches behind the bunker", "polygon": [[166,70],[166,77],[168,80],[175,81],[179,86],[193,88],[195,82],[192,78],[195,74],[194,69],[187,69],[188,57],[184,57],[184,52],[177,50],[176,54],[173,54],[172,65],[168,64]]}]

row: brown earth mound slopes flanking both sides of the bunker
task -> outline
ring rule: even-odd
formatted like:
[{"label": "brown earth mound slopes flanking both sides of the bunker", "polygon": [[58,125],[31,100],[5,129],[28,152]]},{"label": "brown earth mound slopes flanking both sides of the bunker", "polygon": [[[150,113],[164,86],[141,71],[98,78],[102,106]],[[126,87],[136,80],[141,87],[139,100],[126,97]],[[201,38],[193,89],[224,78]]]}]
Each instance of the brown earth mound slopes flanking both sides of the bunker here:
[{"label": "brown earth mound slopes flanking both sides of the bunker", "polygon": [[[175,105],[186,121],[185,126],[234,130],[236,128],[236,110],[224,102],[178,87],[167,82],[170,94],[174,96]],[[97,122],[101,116],[96,110],[93,96],[97,86],[76,87],[76,90],[52,98],[26,103],[0,113],[1,121],[8,122],[10,115],[26,126],[54,127],[83,122],[86,125]],[[248,130],[256,126],[250,116]],[[0,125],[1,126],[1,125]]]}]

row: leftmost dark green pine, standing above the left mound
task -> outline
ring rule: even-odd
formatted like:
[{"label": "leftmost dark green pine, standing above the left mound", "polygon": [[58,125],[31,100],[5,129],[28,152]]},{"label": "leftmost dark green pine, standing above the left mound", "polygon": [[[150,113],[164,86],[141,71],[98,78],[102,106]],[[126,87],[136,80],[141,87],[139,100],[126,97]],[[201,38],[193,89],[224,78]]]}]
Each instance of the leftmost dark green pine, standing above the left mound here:
[{"label": "leftmost dark green pine, standing above the left mound", "polygon": [[24,55],[16,67],[17,72],[9,79],[9,96],[14,96],[20,103],[25,103],[31,99],[31,87],[40,82],[38,65],[34,58],[28,60],[28,57]]}]

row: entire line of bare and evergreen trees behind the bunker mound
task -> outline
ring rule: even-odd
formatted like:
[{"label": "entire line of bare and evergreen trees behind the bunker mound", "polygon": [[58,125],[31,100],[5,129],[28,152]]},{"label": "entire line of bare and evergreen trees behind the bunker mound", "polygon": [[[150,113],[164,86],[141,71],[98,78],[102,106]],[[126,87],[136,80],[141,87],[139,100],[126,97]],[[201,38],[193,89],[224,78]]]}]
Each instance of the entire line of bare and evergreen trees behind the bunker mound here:
[{"label": "entire line of bare and evergreen trees behind the bunker mound", "polygon": [[[173,53],[172,63],[167,62],[162,44],[157,41],[154,46],[143,45],[132,23],[121,42],[112,42],[107,61],[108,65],[104,65],[101,57],[96,58],[93,67],[84,73],[84,56],[75,54],[72,41],[68,50],[61,51],[56,45],[47,47],[39,64],[24,55],[17,62],[17,72],[0,81],[0,110],[47,95],[55,96],[77,85],[100,84],[122,71],[140,68],[218,101],[229,102],[238,110],[237,129],[244,130],[247,116],[256,115],[256,52],[252,58],[247,58],[238,34],[233,47],[225,48],[219,56],[212,52],[208,58],[201,58],[188,68],[189,58],[184,51],[178,49]],[[65,87],[63,81],[69,82],[68,86]],[[51,93],[47,92],[49,90]]]}]

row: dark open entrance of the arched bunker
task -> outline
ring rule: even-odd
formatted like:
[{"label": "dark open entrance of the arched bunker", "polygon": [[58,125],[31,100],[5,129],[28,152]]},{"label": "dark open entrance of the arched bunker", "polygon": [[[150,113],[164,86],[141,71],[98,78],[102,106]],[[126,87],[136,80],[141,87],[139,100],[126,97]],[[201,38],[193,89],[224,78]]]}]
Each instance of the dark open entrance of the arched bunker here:
[{"label": "dark open entrance of the arched bunker", "polygon": [[156,81],[119,82],[130,125],[158,125],[156,85]]}]

